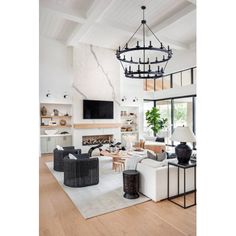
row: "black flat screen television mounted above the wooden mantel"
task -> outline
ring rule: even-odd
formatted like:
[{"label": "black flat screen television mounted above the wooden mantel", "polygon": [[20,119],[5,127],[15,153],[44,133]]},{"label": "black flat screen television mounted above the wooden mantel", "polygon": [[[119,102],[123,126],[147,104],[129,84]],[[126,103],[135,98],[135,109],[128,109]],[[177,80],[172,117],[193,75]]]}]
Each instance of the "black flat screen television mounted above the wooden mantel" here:
[{"label": "black flat screen television mounted above the wooden mantel", "polygon": [[84,119],[113,119],[113,101],[83,100]]}]

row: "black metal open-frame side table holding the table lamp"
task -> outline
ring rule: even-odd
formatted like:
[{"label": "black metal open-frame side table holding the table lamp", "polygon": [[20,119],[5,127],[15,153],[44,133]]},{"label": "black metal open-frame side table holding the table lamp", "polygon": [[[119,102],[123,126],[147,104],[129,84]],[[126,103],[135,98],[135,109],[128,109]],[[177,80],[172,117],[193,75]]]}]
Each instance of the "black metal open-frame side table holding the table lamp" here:
[{"label": "black metal open-frame side table holding the table lamp", "polygon": [[[178,184],[178,194],[175,195],[175,196],[172,196],[170,197],[170,170],[169,170],[169,167],[170,166],[175,166],[178,168],[178,180],[177,180],[177,184]],[[187,165],[182,165],[182,164],[177,164],[177,163],[171,163],[169,162],[168,163],[168,174],[167,174],[167,199],[173,203],[175,203],[176,205],[186,209],[186,208],[189,208],[189,207],[192,207],[192,206],[195,206],[196,205],[196,167],[197,167],[197,164],[196,163],[189,163]],[[182,194],[179,193],[179,169],[182,168],[184,170],[184,192]],[[189,168],[194,168],[194,190],[192,191],[188,191],[186,192],[186,169],[189,169]],[[190,194],[190,193],[194,193],[194,203],[191,204],[191,205],[186,205],[186,195],[187,194]],[[184,204],[181,205],[175,201],[173,201],[172,199],[174,198],[177,198],[177,197],[181,197],[181,196],[184,196]]]}]

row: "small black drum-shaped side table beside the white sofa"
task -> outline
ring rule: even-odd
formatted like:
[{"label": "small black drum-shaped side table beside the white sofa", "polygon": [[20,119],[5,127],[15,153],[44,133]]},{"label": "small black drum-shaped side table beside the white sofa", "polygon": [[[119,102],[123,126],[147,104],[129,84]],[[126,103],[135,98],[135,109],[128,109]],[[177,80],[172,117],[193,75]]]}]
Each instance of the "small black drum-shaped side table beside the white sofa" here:
[{"label": "small black drum-shaped side table beside the white sofa", "polygon": [[136,170],[123,171],[123,188],[124,197],[128,199],[135,199],[139,197],[139,172]]}]

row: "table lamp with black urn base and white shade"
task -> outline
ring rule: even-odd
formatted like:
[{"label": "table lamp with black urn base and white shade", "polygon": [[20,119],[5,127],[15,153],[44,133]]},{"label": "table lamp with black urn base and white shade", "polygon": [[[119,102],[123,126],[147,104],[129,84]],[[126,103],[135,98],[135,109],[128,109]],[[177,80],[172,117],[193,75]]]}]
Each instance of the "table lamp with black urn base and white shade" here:
[{"label": "table lamp with black urn base and white shade", "polygon": [[187,126],[178,126],[174,130],[170,139],[172,141],[180,142],[180,144],[175,147],[175,153],[179,164],[188,164],[192,154],[192,149],[186,143],[196,142],[196,138],[192,130],[190,130]]}]

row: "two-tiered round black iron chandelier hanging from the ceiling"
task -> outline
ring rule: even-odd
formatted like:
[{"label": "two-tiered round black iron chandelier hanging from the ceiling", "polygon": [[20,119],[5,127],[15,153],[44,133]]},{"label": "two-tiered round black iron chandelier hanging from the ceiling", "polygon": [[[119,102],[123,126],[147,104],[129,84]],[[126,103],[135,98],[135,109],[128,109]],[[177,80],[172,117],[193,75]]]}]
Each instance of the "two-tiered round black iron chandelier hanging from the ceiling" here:
[{"label": "two-tiered round black iron chandelier hanging from the ceiling", "polygon": [[[141,24],[131,38],[125,43],[125,45],[116,50],[116,57],[120,61],[125,77],[133,79],[157,79],[164,75],[165,68],[168,61],[172,57],[172,50],[157,38],[152,32],[150,27],[146,24],[144,11],[145,6],[142,6],[143,19]],[[139,31],[142,26],[142,45],[139,41],[136,42],[136,46],[130,47],[129,43],[134,41],[135,34]],[[154,47],[152,42],[149,41],[147,45],[146,30],[150,31],[154,38],[158,41],[159,47]]]}]

